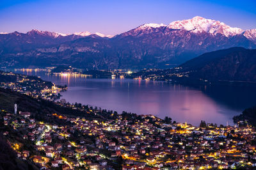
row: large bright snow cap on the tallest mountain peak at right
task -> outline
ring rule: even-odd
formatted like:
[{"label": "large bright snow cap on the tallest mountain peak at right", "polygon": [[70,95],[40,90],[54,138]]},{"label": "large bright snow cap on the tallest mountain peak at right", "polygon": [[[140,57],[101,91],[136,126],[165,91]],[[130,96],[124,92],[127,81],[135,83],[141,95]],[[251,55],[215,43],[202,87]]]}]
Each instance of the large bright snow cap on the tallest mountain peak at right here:
[{"label": "large bright snow cap on the tallest mountain peak at right", "polygon": [[205,19],[203,17],[193,17],[188,20],[177,20],[171,22],[168,27],[170,29],[185,29],[186,31],[193,31],[193,33],[211,33],[212,35],[222,34],[225,36],[234,36],[241,34],[242,29],[237,27],[230,27],[223,22]]}]

